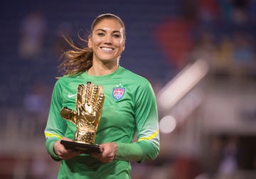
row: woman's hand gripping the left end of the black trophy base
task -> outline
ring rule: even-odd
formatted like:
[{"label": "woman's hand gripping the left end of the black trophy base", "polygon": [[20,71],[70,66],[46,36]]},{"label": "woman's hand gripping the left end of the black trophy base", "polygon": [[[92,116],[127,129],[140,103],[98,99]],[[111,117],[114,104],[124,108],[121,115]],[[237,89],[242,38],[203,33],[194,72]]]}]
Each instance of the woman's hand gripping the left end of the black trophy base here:
[{"label": "woman's hand gripping the left end of the black trophy base", "polygon": [[[61,139],[63,141],[72,141],[71,139],[63,137]],[[59,156],[60,159],[62,160],[67,160],[70,158],[73,158],[74,156],[78,156],[80,153],[78,151],[73,151],[73,150],[68,150],[66,149],[63,144],[60,143],[60,141],[55,141],[53,144],[53,148],[55,153]]]}]

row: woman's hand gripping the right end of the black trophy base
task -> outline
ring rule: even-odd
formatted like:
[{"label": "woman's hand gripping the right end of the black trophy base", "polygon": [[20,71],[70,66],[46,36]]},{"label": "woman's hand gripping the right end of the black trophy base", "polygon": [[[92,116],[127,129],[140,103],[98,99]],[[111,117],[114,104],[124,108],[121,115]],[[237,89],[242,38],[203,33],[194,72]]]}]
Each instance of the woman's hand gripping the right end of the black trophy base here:
[{"label": "woman's hand gripping the right end of the black trophy base", "polygon": [[103,163],[110,163],[114,160],[114,156],[117,154],[117,143],[102,143],[100,144],[100,151],[102,151],[102,153],[91,153],[91,156]]}]

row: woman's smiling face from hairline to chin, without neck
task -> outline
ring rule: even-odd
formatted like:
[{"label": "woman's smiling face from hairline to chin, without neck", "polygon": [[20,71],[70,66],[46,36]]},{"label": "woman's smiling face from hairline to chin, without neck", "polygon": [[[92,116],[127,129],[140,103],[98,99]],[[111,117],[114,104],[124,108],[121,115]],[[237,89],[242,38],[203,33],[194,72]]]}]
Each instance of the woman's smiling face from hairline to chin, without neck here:
[{"label": "woman's smiling face from hairline to chin, without neck", "polygon": [[117,62],[124,50],[124,28],[112,18],[97,23],[89,36],[88,47],[93,51],[93,60],[102,63]]}]

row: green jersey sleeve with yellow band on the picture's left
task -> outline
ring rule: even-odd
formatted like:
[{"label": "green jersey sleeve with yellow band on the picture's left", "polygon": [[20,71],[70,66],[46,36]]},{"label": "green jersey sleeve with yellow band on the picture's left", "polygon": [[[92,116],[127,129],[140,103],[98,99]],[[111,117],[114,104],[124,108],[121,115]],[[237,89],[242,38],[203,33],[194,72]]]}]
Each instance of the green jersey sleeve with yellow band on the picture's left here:
[{"label": "green jersey sleeve with yellow band on the picture's left", "polygon": [[57,81],[54,88],[53,94],[50,101],[50,110],[48,115],[48,121],[45,129],[46,136],[46,149],[50,156],[55,160],[59,161],[60,159],[55,154],[53,149],[53,144],[55,141],[58,141],[63,138],[67,124],[65,120],[60,116],[60,109],[62,108],[62,92],[60,82]]}]

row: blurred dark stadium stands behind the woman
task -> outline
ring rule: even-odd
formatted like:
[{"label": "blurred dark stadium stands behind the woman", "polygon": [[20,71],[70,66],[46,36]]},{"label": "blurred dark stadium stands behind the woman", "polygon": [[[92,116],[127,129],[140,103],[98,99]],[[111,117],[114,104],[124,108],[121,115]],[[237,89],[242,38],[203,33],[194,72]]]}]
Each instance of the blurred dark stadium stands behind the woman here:
[{"label": "blurred dark stadium stands behind the woman", "polygon": [[[43,129],[60,50],[68,48],[61,34],[80,44],[78,33],[87,38],[100,13],[123,19],[120,65],[148,78],[159,103],[161,152],[132,163],[133,178],[254,178],[253,0],[1,1],[0,178],[56,177]],[[194,79],[191,66],[205,73]],[[184,74],[180,93],[167,88],[179,96],[166,107],[166,84]]]}]

